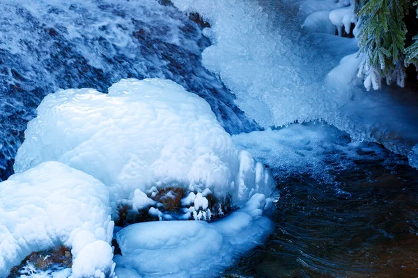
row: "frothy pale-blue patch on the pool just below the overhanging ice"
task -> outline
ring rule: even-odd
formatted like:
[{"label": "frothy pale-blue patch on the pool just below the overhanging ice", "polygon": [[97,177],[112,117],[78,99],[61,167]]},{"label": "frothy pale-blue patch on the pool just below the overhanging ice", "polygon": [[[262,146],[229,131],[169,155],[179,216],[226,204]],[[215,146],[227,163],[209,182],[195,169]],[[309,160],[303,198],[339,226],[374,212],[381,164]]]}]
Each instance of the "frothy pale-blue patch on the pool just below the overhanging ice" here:
[{"label": "frothy pale-blue patch on the pool just below the overhanging ice", "polygon": [[233,136],[233,142],[258,161],[272,165],[274,177],[309,174],[329,183],[330,172],[355,167],[355,161],[383,161],[387,156],[378,145],[352,142],[347,133],[318,122],[241,133]]}]

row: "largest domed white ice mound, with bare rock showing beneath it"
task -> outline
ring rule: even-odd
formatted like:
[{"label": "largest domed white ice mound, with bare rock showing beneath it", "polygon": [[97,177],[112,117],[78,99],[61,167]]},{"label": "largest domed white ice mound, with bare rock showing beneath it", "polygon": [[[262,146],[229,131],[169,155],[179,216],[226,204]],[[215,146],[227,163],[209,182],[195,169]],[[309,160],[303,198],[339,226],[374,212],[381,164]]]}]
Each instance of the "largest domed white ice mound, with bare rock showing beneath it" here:
[{"label": "largest domed white ice mound, with bare rock showing beneath it", "polygon": [[[108,188],[111,206],[141,206],[154,186],[210,189],[238,206],[274,185],[247,152],[238,153],[208,103],[173,81],[123,79],[109,88],[61,90],[48,95],[29,122],[15,172],[60,161]],[[148,200],[148,204],[150,200]]]}]

